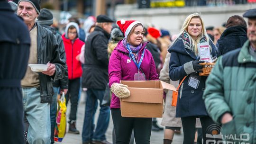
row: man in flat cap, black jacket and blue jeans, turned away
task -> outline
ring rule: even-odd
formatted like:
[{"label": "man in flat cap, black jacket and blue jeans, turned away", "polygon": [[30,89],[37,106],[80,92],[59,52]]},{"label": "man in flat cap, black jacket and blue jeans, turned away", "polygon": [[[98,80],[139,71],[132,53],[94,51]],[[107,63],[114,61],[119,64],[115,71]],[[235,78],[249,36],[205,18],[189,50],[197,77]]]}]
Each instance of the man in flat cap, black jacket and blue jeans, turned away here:
[{"label": "man in flat cap, black jacket and blue jeans, turned away", "polygon": [[101,105],[97,126],[94,126],[93,120],[98,100],[101,103],[109,81],[107,49],[113,22],[109,17],[99,15],[94,31],[85,42],[82,87],[88,90],[82,130],[83,144],[110,144],[105,136],[109,126],[110,107]]}]

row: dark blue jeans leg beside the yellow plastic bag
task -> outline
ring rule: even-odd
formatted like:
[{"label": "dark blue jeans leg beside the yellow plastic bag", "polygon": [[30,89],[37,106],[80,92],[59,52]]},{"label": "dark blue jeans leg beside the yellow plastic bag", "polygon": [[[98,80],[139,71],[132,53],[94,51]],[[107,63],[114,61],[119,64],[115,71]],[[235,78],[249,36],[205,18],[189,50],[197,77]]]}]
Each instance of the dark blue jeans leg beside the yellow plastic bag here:
[{"label": "dark blue jeans leg beside the yellow plastic bag", "polygon": [[54,87],[53,102],[50,105],[50,115],[51,115],[51,144],[54,144],[54,127],[56,123],[56,113],[57,113],[57,95],[60,88]]}]

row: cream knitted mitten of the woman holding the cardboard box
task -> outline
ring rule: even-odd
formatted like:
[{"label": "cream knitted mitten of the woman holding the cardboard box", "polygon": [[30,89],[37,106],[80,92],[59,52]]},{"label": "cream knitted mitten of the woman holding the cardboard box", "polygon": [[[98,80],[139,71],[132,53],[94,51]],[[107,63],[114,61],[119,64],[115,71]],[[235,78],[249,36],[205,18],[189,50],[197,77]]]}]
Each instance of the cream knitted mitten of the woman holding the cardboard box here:
[{"label": "cream knitted mitten of the woman holding the cardboard box", "polygon": [[121,83],[113,83],[110,90],[119,98],[127,98],[130,96],[128,86]]}]

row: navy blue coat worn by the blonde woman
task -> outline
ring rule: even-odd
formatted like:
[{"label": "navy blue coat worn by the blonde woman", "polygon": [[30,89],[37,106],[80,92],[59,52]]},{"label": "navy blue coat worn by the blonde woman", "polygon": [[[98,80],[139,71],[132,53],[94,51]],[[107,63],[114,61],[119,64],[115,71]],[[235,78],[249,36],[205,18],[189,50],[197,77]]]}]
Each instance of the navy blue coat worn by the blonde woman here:
[{"label": "navy blue coat worn by the blonde woman", "polygon": [[[211,55],[216,56],[216,48],[210,41]],[[205,89],[205,81],[207,76],[199,76],[198,72],[193,71],[192,61],[196,60],[196,55],[189,49],[184,47],[182,39],[177,41],[168,50],[171,53],[171,59],[169,63],[169,76],[172,81],[182,81],[184,76],[188,75],[183,81],[178,95],[176,117],[190,117],[190,116],[208,116],[205,109],[202,94]],[[186,73],[186,69],[190,68],[191,72]],[[189,78],[191,76],[196,77],[200,83],[197,89],[188,85]]]}]

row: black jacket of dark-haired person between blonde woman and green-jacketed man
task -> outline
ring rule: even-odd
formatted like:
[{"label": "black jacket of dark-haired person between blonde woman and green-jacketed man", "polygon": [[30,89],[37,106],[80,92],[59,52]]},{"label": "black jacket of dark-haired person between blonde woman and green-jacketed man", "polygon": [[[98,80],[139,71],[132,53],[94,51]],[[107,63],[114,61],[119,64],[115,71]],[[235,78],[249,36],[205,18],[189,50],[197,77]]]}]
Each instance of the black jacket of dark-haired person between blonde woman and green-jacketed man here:
[{"label": "black jacket of dark-haired person between blonde woman and green-jacketed man", "polygon": [[241,26],[229,27],[224,30],[217,42],[217,56],[240,48],[247,41],[247,28]]}]

